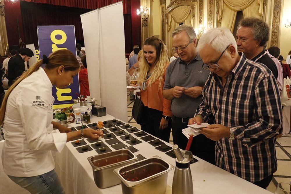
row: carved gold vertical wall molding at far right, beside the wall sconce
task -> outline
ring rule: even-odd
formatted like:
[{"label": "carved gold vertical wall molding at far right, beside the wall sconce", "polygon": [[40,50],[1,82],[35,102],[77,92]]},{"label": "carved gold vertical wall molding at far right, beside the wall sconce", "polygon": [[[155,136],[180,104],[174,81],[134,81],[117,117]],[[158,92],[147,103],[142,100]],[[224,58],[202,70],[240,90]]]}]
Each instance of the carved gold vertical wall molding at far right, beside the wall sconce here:
[{"label": "carved gold vertical wall molding at far right, beside the wall sconce", "polygon": [[281,4],[282,0],[274,0],[271,47],[278,46]]}]

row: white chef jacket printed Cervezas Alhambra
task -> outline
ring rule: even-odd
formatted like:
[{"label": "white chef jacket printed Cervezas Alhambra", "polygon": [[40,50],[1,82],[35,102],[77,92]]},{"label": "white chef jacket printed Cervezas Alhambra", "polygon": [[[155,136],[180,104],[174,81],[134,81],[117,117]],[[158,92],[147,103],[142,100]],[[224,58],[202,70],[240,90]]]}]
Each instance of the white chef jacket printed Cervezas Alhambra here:
[{"label": "white chef jacket printed Cervezas Alhambra", "polygon": [[10,93],[4,118],[4,172],[14,177],[42,175],[54,169],[51,150],[60,152],[66,133],[51,133],[52,83],[40,67]]}]

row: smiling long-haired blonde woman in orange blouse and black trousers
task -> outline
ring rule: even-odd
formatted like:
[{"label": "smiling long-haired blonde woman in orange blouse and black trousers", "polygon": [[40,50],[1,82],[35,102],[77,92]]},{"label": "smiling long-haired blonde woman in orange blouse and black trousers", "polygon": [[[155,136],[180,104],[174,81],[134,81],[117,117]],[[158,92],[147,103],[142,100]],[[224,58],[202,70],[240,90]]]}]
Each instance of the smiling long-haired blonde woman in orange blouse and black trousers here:
[{"label": "smiling long-haired blonde woman in orange blouse and black trousers", "polygon": [[171,102],[163,97],[168,65],[164,43],[154,36],[147,38],[139,62],[138,83],[141,86],[141,101],[145,106],[145,124],[141,124],[141,129],[166,142],[169,142],[172,128]]}]

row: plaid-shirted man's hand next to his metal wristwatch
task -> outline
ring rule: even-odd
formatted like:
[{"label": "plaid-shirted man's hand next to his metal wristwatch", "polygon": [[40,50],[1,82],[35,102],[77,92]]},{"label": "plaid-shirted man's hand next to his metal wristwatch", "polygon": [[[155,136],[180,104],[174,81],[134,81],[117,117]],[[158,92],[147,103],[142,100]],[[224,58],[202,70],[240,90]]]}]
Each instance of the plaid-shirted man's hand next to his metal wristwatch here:
[{"label": "plaid-shirted man's hand next to his metal wristwatch", "polygon": [[205,135],[207,138],[218,141],[222,138],[230,137],[230,128],[221,124],[211,124],[205,128],[200,128],[201,134]]}]

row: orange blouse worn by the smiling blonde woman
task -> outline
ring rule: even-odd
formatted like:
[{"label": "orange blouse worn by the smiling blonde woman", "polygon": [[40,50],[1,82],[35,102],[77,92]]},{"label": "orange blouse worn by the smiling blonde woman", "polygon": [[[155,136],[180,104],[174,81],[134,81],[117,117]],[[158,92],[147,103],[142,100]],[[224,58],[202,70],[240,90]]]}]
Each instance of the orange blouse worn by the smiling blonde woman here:
[{"label": "orange blouse worn by the smiling blonde woman", "polygon": [[164,116],[172,117],[173,113],[171,112],[171,101],[163,97],[163,87],[165,83],[166,70],[168,68],[168,65],[165,69],[164,76],[162,78],[161,87],[159,88],[158,80],[156,80],[150,86],[147,85],[147,90],[141,90],[141,101],[145,106],[148,106],[148,108],[153,108],[162,111]]}]

